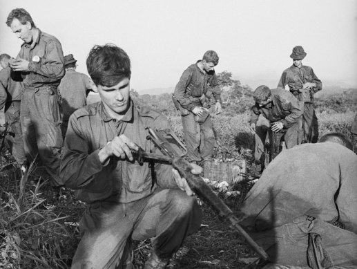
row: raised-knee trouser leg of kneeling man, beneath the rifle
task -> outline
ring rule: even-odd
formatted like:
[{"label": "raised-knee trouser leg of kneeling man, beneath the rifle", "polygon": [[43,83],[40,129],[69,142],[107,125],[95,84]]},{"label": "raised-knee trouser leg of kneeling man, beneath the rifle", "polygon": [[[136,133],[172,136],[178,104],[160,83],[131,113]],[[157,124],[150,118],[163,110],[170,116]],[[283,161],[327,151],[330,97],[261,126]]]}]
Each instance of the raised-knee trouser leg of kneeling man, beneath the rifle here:
[{"label": "raised-knee trouser leg of kneeling man, beneath the rifle", "polygon": [[198,228],[202,211],[195,198],[180,189],[163,189],[151,196],[139,215],[133,239],[155,237],[153,248],[165,259],[181,247],[187,235]]}]

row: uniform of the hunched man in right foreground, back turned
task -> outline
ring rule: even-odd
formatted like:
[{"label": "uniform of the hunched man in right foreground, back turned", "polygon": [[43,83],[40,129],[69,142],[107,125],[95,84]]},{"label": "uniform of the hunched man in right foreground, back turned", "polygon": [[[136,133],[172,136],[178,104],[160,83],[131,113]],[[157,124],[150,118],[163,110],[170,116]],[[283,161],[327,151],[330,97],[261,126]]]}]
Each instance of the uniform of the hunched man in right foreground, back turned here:
[{"label": "uniform of the hunched man in right foreground, back turned", "polygon": [[274,263],[308,266],[309,239],[320,236],[334,266],[356,266],[356,175],[356,154],[336,143],[282,151],[247,194],[241,224]]}]

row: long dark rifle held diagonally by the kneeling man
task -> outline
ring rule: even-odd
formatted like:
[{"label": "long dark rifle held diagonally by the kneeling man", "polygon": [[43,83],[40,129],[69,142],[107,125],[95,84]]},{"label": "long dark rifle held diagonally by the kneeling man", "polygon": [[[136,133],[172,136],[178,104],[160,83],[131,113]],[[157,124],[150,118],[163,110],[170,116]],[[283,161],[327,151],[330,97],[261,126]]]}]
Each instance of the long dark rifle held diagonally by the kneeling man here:
[{"label": "long dark rifle held diagonally by the kneeling man", "polygon": [[[226,219],[231,222],[231,225],[244,236],[244,239],[247,240],[249,245],[257,252],[262,259],[267,260],[269,257],[266,252],[260,246],[255,243],[255,241],[243,230],[242,226],[240,226],[240,221],[242,218],[238,218],[233,214],[233,211],[213,192],[211,187],[207,185],[201,176],[195,175],[191,173],[192,166],[191,164],[183,158],[186,154],[186,148],[180,140],[175,136],[175,134],[171,133],[169,130],[160,130],[154,131],[151,128],[148,129],[148,140],[152,140],[155,146],[160,149],[162,154],[151,154],[143,149],[139,149],[138,151],[133,151],[134,157],[137,159],[138,163],[143,163],[145,159],[149,160],[157,160],[162,163],[168,163],[172,165],[182,176],[182,178],[186,178],[189,187],[197,194],[199,198],[208,203],[215,212],[218,213],[220,219]],[[166,137],[171,136],[173,138],[174,144],[171,144]],[[178,145],[177,145],[178,144]],[[173,147],[176,145],[184,154],[180,154],[177,149]]]}]

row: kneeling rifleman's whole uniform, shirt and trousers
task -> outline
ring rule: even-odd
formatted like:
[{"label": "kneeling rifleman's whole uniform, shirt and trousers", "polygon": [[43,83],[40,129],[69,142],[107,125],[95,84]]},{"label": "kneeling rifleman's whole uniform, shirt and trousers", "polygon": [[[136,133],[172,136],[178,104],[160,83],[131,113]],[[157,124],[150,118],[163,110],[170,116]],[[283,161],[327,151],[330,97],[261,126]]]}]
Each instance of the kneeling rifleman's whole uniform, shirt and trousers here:
[{"label": "kneeling rifleman's whole uniform, shirt and trousers", "polygon": [[122,134],[145,151],[157,151],[146,139],[146,127],[163,130],[169,125],[162,114],[133,102],[122,120],[110,118],[102,102],[70,116],[61,176],[88,203],[72,268],[116,268],[126,261],[131,239],[154,236],[155,253],[171,257],[186,235],[200,227],[200,207],[177,189],[171,166],[113,157],[100,163],[99,150]]}]

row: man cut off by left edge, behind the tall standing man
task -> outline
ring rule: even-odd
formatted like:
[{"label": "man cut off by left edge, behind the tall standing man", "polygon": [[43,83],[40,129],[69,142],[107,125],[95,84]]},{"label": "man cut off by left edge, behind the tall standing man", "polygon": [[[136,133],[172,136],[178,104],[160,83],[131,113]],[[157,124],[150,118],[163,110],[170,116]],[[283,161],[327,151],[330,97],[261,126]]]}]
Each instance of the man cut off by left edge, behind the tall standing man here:
[{"label": "man cut off by left edge, behind the tall standing man", "polygon": [[26,171],[26,155],[23,149],[22,131],[20,124],[20,104],[22,97],[21,78],[15,77],[9,64],[10,55],[0,55],[0,110],[5,107],[5,122],[8,124],[7,135],[4,139],[8,142],[10,152],[17,161],[21,171]]}]

